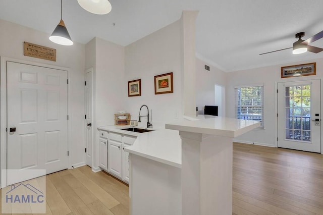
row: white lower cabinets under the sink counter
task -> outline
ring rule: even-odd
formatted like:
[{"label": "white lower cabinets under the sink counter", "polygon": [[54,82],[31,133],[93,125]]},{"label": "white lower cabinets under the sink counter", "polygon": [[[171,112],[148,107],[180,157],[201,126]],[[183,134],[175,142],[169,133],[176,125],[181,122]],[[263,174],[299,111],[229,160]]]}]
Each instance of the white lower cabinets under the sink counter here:
[{"label": "white lower cabinets under the sink counter", "polygon": [[99,167],[129,183],[129,153],[124,149],[131,146],[136,136],[99,130]]}]

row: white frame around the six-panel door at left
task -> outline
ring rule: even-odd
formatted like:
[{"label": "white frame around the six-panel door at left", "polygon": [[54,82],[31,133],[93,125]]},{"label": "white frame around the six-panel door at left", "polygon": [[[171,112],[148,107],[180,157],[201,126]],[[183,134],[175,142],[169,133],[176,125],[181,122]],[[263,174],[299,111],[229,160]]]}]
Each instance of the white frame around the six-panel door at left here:
[{"label": "white frame around the six-panel door at left", "polygon": [[[32,66],[39,66],[39,67],[46,67],[50,69],[57,69],[57,70],[64,70],[67,71],[67,78],[70,81],[70,69],[65,68],[65,67],[59,67],[59,66],[54,66],[54,65],[48,65],[48,64],[43,64],[43,63],[36,63],[36,62],[31,62],[31,61],[24,61],[24,60],[19,60],[19,59],[14,59],[14,58],[7,58],[7,57],[1,57],[0,56],[0,134],[1,134],[1,139],[0,139],[0,145],[1,145],[1,173],[0,173],[0,187],[6,187],[7,186],[7,132],[6,132],[6,127],[7,127],[7,61],[14,62],[14,63],[21,63],[21,64],[28,64]],[[67,86],[67,113],[72,113],[70,110],[71,107],[69,105],[70,101],[70,84]],[[68,150],[70,149],[70,140],[72,139],[71,137],[71,120],[68,120],[68,126],[67,126],[67,148]],[[71,156],[67,157],[67,168],[71,167]]]}]

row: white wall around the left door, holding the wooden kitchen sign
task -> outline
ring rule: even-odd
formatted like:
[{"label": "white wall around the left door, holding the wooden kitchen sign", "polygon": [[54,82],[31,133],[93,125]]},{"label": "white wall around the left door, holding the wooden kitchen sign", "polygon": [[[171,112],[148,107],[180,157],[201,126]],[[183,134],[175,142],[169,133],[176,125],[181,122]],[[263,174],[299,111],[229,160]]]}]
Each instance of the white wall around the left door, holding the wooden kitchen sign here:
[{"label": "white wall around the left door, holding the wooden kitchen sign", "polygon": [[[46,33],[4,20],[0,20],[0,29],[0,56],[69,68],[69,122],[72,128],[69,130],[70,166],[83,164],[85,145],[84,135],[80,134],[84,132],[85,46],[77,42],[72,46],[58,45],[51,42]],[[24,41],[56,48],[56,62],[24,56]]]}]

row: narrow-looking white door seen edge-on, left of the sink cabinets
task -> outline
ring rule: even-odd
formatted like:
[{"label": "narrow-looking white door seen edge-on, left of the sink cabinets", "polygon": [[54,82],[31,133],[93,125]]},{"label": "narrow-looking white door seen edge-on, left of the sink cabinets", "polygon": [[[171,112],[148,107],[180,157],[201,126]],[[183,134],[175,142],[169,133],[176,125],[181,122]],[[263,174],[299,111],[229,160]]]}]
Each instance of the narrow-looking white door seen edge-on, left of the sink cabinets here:
[{"label": "narrow-looking white door seen edge-on, left of the sink cabinets", "polygon": [[86,164],[92,167],[92,147],[93,147],[93,94],[92,94],[92,70],[89,70],[85,74],[85,116],[86,116],[86,130],[85,130],[85,140],[86,140]]}]

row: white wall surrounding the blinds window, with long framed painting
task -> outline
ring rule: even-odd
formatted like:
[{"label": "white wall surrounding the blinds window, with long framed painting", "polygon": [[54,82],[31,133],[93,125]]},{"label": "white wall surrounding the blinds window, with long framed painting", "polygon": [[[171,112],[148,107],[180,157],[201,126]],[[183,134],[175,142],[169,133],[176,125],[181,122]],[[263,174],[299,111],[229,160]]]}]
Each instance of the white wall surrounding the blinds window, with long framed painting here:
[{"label": "white wall surrounding the blinds window, with long framed painting", "polygon": [[[293,78],[281,78],[281,67],[289,65],[298,65],[316,62],[316,75],[302,76]],[[320,79],[323,77],[323,59],[316,59],[304,62],[295,62],[287,65],[277,65],[271,67],[263,67],[250,69],[245,71],[231,72],[227,74],[227,117],[235,117],[235,100],[234,87],[238,85],[261,84],[264,86],[264,130],[255,129],[251,132],[243,134],[235,139],[238,142],[255,143],[268,146],[276,146],[277,144],[277,103],[276,103],[276,87],[277,82],[299,81],[304,79]],[[321,94],[322,101],[322,94]],[[322,114],[321,110],[321,114]],[[322,126],[323,127],[323,126]]]}]

